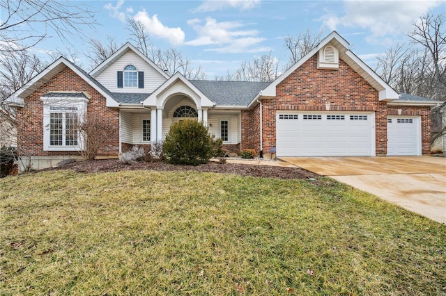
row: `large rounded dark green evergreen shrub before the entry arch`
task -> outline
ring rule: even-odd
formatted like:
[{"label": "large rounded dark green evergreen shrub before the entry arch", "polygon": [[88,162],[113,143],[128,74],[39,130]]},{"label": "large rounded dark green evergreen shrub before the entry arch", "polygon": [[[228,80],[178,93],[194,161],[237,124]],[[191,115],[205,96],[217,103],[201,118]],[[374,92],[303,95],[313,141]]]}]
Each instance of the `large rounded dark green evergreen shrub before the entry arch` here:
[{"label": "large rounded dark green evergreen shrub before the entry arch", "polygon": [[183,120],[170,126],[163,145],[164,158],[178,165],[208,163],[221,150],[222,140],[210,135],[201,122]]}]

